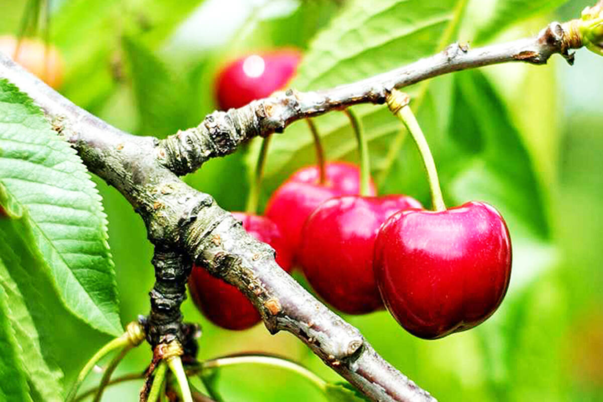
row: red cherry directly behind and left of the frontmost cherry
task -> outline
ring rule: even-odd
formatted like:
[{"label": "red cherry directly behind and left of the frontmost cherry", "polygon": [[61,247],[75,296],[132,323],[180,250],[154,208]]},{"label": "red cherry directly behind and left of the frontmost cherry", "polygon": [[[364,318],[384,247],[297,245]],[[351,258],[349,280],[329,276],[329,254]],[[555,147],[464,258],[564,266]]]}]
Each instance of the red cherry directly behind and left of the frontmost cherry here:
[{"label": "red cherry directly behind and left of the frontmost cherry", "polygon": [[301,268],[327,303],[349,314],[383,307],[373,275],[373,247],[379,227],[400,209],[421,208],[404,195],[343,196],[328,199],[303,228]]}]

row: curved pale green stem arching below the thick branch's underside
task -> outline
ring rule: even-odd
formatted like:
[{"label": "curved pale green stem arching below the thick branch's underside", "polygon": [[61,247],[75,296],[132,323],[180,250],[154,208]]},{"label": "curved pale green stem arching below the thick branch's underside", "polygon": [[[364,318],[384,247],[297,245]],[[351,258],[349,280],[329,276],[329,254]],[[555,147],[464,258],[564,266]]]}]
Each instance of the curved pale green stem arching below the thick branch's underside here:
[{"label": "curved pale green stem arching below the thick branch's underside", "polygon": [[326,381],[318,377],[318,375],[314,374],[314,372],[310,371],[304,366],[292,362],[291,360],[283,359],[282,357],[265,354],[242,354],[238,356],[218,357],[217,359],[206,360],[205,362],[201,363],[200,368],[201,370],[214,369],[239,364],[260,364],[284,368],[305,377],[321,391],[324,391],[327,386]]}]

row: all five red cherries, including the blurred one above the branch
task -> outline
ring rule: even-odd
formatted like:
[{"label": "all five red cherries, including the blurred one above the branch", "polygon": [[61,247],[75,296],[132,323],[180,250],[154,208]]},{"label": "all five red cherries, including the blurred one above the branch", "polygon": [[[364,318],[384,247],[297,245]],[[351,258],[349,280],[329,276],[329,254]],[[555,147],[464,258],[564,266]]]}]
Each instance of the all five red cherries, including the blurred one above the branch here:
[{"label": "all five red cherries, including the blurred one above the branch", "polygon": [[[299,61],[291,50],[234,61],[217,80],[220,107],[270,95]],[[292,174],[271,196],[265,216],[233,215],[274,248],[281,268],[300,266],[315,292],[341,312],[387,307],[403,328],[425,339],[467,330],[493,314],[511,274],[510,236],[500,213],[480,202],[447,209],[441,193],[439,203],[434,196],[436,210],[427,210],[411,196],[377,196],[372,181],[361,189],[361,181],[358,166],[323,161]],[[439,191],[437,175],[430,181]],[[202,267],[194,266],[189,288],[221,327],[240,330],[260,321],[238,289]]]}]

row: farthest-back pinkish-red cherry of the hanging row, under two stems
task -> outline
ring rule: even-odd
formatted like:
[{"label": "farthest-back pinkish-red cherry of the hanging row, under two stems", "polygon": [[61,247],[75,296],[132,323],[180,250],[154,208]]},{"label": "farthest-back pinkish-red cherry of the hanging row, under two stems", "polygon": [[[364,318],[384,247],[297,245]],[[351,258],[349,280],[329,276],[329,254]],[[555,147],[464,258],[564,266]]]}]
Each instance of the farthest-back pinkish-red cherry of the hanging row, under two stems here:
[{"label": "farthest-back pinkish-red cherry of the hanging row, under two stems", "polygon": [[[312,211],[323,201],[360,191],[360,170],[348,162],[330,162],[325,166],[326,183],[318,183],[318,166],[307,166],[291,175],[268,200],[264,215],[285,234],[289,248],[297,254],[301,229]],[[370,195],[376,193],[371,182]]]}]

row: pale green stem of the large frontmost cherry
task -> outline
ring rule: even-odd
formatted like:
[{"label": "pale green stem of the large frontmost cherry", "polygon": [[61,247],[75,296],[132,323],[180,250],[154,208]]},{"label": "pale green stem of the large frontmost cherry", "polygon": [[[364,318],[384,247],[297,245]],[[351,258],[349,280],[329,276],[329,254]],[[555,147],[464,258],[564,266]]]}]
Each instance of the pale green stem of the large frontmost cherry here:
[{"label": "pale green stem of the large frontmost cherry", "polygon": [[431,150],[429,149],[425,135],[423,134],[414,113],[412,113],[411,107],[408,105],[409,101],[410,98],[406,93],[395,89],[387,97],[387,104],[390,107],[390,110],[402,120],[421,154],[423,166],[425,166],[425,170],[427,171],[429,190],[431,192],[434,210],[445,211],[446,204],[444,204],[438,172],[435,169],[434,157],[431,155]]}]

